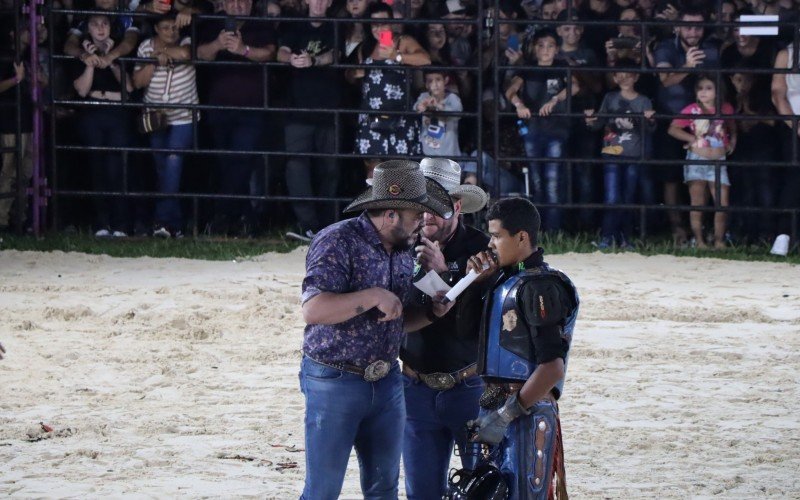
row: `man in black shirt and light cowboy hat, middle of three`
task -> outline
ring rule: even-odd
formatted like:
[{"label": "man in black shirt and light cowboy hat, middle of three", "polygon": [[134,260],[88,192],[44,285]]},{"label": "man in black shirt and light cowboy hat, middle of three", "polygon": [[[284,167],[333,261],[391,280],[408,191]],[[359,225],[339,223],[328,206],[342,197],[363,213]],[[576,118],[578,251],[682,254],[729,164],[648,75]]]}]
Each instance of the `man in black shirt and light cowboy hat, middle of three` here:
[{"label": "man in black shirt and light cowboy hat, middle of three", "polygon": [[[489,242],[459,215],[481,210],[488,195],[477,186],[460,185],[461,167],[452,160],[425,158],[420,166],[427,178],[450,193],[456,216],[445,220],[425,214],[417,262],[421,272],[434,270],[453,285],[464,277],[467,259]],[[428,297],[417,297],[422,299]],[[471,468],[476,459],[465,449],[465,424],[477,417],[483,392],[475,375],[480,301],[478,287],[468,288],[448,314],[408,335],[400,350],[407,414],[403,463],[409,499],[442,498],[453,444],[465,468]]]}]

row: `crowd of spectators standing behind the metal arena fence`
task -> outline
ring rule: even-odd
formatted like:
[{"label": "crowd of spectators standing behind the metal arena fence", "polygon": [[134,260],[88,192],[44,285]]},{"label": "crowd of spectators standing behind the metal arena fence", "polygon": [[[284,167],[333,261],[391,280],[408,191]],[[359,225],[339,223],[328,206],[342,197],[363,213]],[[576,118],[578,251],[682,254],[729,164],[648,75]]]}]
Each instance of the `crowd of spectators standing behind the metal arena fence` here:
[{"label": "crowd of spectators standing behind the metal arena fence", "polygon": [[[48,16],[39,68],[24,57],[27,25],[16,33],[5,16],[0,193],[30,178],[26,84],[38,78],[55,102],[47,140],[95,148],[57,149],[57,187],[109,193],[91,206],[66,199],[60,223],[92,224],[99,237],[180,236],[192,218],[212,234],[275,223],[308,239],[337,217],[338,205],[312,198],[348,197],[397,156],[460,158],[466,182],[529,195],[546,204],[544,230],[589,231],[601,248],[630,245],[638,212],[571,203],[800,206],[800,169],[777,165],[798,163],[798,0],[483,4],[60,0],[53,7],[101,12]],[[795,24],[744,35],[747,14]],[[225,197],[187,211],[189,200],[170,196],[180,193]],[[303,200],[255,198],[265,194]],[[12,201],[0,199],[0,227]],[[654,212],[648,222],[662,215],[679,245],[793,229],[790,217],[759,211]]]}]

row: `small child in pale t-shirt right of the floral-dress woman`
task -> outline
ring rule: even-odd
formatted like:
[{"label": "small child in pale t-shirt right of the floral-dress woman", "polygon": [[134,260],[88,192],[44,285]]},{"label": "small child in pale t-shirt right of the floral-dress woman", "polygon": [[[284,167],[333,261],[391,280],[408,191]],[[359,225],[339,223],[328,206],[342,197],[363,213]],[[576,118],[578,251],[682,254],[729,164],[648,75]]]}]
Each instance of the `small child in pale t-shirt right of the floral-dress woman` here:
[{"label": "small child in pale t-shirt right of the floral-dress woman", "polygon": [[425,88],[428,91],[420,94],[414,104],[414,109],[422,113],[422,130],[419,138],[425,156],[447,158],[461,156],[461,148],[458,146],[460,118],[437,114],[441,111],[460,112],[464,109],[458,95],[447,90],[449,80],[444,71],[426,71]]}]

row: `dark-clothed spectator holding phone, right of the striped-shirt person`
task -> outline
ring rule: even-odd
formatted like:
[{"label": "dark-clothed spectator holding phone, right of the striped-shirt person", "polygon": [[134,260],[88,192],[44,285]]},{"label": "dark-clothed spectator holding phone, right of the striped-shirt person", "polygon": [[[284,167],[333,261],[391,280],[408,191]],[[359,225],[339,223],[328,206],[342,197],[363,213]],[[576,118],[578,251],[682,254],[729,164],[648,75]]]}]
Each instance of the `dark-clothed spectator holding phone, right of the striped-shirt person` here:
[{"label": "dark-clothed spectator holding phone, right of the striped-shirt person", "polygon": [[[225,0],[226,20],[213,19],[198,26],[197,57],[204,61],[265,62],[275,59],[275,33],[271,22],[251,19],[252,0]],[[263,108],[264,71],[256,65],[217,66],[205,73],[208,104]],[[264,140],[262,111],[215,109],[208,112],[215,149],[253,151]],[[259,155],[217,156],[219,193],[250,194],[250,177],[261,164]],[[218,234],[247,236],[255,221],[249,201],[217,201],[212,230]]]}]

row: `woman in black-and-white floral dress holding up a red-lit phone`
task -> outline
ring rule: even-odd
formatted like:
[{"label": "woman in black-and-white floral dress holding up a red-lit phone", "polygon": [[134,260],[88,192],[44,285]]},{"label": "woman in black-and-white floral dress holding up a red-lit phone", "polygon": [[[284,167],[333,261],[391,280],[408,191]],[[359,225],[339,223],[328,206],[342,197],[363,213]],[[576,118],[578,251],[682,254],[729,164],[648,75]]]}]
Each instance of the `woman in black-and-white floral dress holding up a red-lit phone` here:
[{"label": "woman in black-and-white floral dress holding up a red-lit phone", "polygon": [[406,82],[410,72],[403,66],[424,66],[431,63],[425,49],[408,35],[397,35],[391,24],[392,8],[373,3],[367,9],[370,35],[358,50],[358,62],[370,68],[348,70],[348,80],[361,80],[361,109],[356,133],[356,153],[365,160],[367,179],[383,156],[418,155],[419,122],[406,115],[382,115],[381,111],[408,111]]}]

